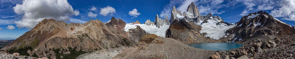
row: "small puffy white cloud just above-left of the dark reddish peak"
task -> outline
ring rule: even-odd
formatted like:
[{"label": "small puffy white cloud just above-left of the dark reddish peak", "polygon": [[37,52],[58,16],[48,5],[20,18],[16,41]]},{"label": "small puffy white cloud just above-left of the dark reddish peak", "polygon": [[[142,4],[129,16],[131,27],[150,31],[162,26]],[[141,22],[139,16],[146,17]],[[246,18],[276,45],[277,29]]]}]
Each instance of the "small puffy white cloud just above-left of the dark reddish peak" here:
[{"label": "small puffy white cloud just above-left of the dark reddish peak", "polygon": [[102,16],[107,16],[107,15],[111,15],[112,16],[114,13],[116,13],[116,10],[113,7],[106,6],[104,8],[101,8],[99,14],[102,15]]}]

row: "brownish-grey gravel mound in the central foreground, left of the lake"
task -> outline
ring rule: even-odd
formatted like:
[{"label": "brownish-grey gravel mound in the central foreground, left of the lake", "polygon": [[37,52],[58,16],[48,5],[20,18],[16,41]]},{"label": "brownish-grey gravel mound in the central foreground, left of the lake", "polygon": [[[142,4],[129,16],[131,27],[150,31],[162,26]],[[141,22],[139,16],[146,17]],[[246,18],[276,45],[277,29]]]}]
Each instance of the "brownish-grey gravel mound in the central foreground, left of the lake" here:
[{"label": "brownish-grey gravel mound in the central foreground, left of the lake", "polygon": [[207,59],[213,50],[190,47],[172,38],[150,34],[143,36],[135,47],[127,47],[113,59]]}]

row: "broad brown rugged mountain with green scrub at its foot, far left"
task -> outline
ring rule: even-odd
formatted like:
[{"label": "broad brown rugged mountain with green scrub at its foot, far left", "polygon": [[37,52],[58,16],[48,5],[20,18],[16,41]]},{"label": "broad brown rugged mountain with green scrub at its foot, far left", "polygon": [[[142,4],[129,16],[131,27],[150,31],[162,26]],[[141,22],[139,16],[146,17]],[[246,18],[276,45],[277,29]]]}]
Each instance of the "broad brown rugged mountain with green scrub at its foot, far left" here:
[{"label": "broad brown rugged mountain with green scrub at its foot, far left", "polygon": [[125,25],[114,17],[106,23],[90,20],[84,24],[44,19],[1,50],[33,57],[76,58],[90,51],[134,46],[139,39],[133,38],[140,36],[125,32]]}]

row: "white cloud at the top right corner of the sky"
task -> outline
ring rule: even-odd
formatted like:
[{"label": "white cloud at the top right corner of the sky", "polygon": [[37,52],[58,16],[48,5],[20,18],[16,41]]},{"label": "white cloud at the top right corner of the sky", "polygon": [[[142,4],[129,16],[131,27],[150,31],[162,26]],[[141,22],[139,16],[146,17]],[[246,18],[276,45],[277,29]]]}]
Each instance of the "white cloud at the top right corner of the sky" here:
[{"label": "white cloud at the top right corner of the sky", "polygon": [[280,8],[273,9],[271,15],[273,17],[283,17],[285,20],[295,21],[295,1],[282,0],[279,2]]}]

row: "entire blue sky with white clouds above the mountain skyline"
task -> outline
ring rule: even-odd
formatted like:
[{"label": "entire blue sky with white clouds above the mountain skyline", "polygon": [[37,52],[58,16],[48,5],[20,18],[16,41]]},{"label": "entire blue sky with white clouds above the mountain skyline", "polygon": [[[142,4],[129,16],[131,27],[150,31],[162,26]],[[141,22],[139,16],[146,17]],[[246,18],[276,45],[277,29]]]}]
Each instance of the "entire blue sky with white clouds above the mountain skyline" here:
[{"label": "entire blue sky with white clouds above the mountain skyline", "polygon": [[170,19],[173,6],[186,12],[191,2],[201,15],[213,13],[229,23],[262,10],[295,26],[294,0],[0,0],[0,39],[17,38],[45,18],[84,23],[90,19],[107,22],[115,17],[126,23],[144,23],[147,19],[154,22],[159,14]]}]

